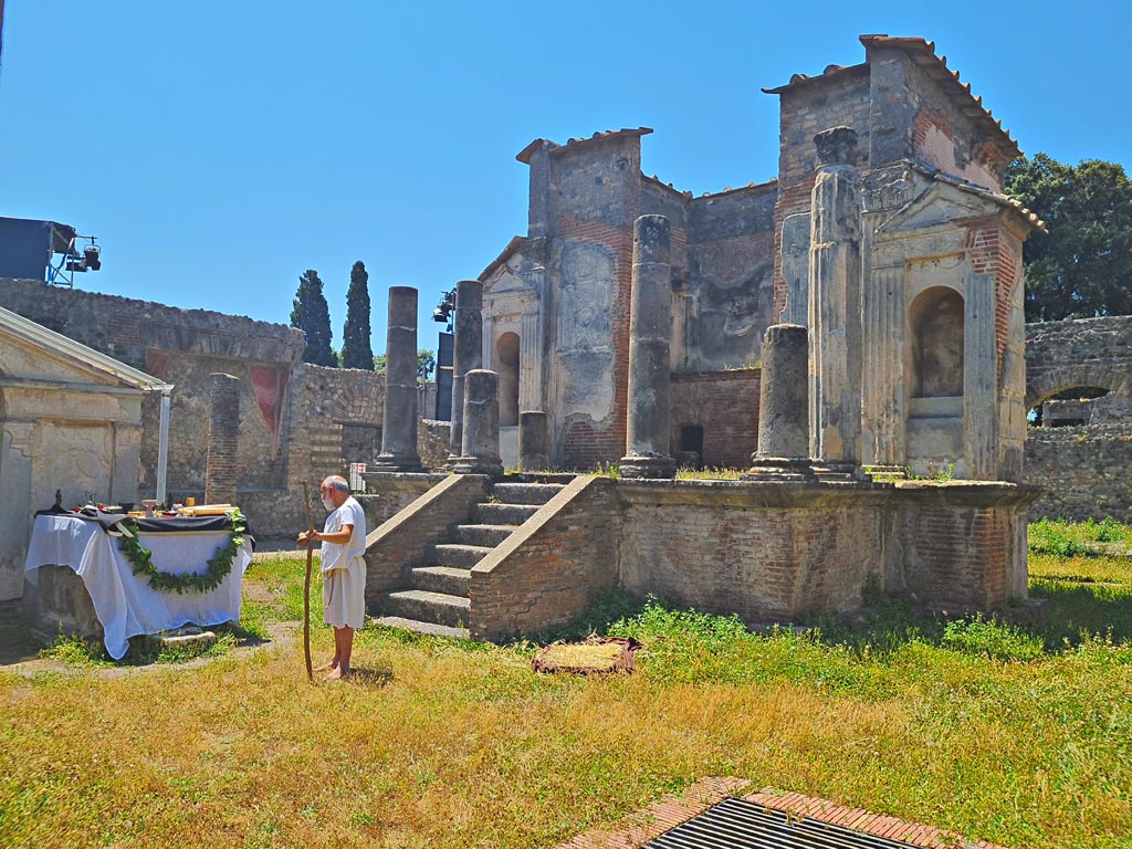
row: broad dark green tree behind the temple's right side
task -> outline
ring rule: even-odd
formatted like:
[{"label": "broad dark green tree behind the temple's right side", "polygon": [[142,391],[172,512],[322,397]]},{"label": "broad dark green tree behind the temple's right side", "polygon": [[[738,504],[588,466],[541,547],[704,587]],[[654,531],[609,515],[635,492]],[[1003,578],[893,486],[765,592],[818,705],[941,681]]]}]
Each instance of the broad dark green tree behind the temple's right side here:
[{"label": "broad dark green tree behind the temple's right side", "polygon": [[1049,230],[1022,248],[1027,320],[1132,312],[1132,181],[1123,165],[1065,165],[1039,153],[1011,163],[1006,194]]}]

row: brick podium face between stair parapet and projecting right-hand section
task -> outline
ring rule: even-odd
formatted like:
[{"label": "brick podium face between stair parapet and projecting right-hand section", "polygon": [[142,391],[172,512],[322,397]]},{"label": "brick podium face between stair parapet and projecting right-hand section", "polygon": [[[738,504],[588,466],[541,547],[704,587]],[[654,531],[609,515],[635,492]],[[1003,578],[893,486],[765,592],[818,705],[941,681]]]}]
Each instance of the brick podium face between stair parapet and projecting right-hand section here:
[{"label": "brick podium face between stair parapet and projecting right-hand section", "polygon": [[619,481],[621,581],[747,621],[860,606],[883,564],[884,497],[730,481]]}]

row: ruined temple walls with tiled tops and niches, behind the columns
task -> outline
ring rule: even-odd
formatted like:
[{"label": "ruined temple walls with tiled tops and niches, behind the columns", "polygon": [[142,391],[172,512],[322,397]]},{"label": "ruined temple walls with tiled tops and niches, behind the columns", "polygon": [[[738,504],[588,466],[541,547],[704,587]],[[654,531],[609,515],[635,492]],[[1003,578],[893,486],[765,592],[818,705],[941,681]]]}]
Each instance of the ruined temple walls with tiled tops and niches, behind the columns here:
[{"label": "ruined temple walls with tiled tops and niches, behind the columns", "polygon": [[[670,222],[674,454],[746,465],[762,338],[790,323],[811,328],[812,374],[815,345],[848,334],[840,379],[860,410],[847,431],[852,460],[1020,479],[1021,251],[1040,222],[1002,194],[1019,148],[932,43],[860,41],[860,65],[764,89],[781,103],[769,182],[701,197],[674,189],[641,171],[648,128],[537,139],[518,154],[530,168],[528,233],[480,275],[501,432],[520,411],[542,410],[552,464],[585,469],[625,453],[633,225],[659,214]],[[850,326],[815,328],[815,300],[818,317],[827,300],[809,291],[824,280],[811,268],[821,256],[812,234],[825,232],[811,208],[815,136],[834,127],[856,138],[838,165],[852,172],[839,183],[852,198],[837,226],[854,234],[859,260]]]}]

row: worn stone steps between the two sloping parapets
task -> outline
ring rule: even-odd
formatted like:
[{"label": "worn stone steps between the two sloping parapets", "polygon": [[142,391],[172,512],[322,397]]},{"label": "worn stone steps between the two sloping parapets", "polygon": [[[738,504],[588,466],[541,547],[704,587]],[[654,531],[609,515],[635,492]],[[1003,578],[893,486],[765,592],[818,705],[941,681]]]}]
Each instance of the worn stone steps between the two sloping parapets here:
[{"label": "worn stone steps between the two sloping parapets", "polygon": [[560,492],[573,475],[546,475],[532,482],[499,482],[488,501],[477,504],[466,524],[431,547],[431,557],[404,572],[404,589],[386,593],[378,625],[422,634],[468,638],[471,568],[539,508]]}]

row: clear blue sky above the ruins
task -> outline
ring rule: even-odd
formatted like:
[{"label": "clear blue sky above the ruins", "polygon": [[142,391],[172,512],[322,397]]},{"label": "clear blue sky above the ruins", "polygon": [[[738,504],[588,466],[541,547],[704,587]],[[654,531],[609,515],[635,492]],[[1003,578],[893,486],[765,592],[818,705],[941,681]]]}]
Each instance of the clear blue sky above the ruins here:
[{"label": "clear blue sky above the ruins", "polygon": [[778,170],[763,86],[923,35],[1027,153],[1132,163],[1132,6],[1028,2],[271,3],[8,0],[0,215],[94,233],[77,285],[286,323],[316,268],[342,343],[350,267],[443,290],[526,230],[531,139],[648,126],[695,194]]}]

